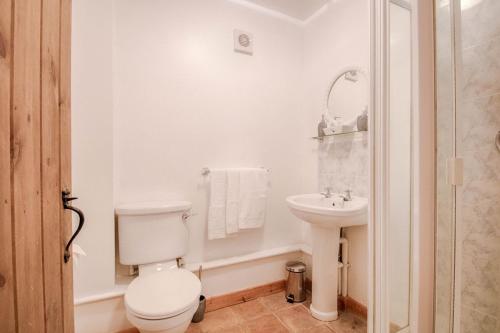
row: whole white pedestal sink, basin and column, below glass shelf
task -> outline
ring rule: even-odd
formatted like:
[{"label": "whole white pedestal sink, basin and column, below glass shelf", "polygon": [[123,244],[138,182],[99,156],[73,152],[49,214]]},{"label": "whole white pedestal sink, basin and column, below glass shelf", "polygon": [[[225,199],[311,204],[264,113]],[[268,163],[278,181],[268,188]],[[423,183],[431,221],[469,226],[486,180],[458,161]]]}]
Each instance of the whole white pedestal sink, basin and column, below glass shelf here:
[{"label": "whole white pedestal sink, basin and column, below glass shelf", "polygon": [[[340,228],[367,224],[368,200],[352,196],[351,201],[325,198],[321,194],[301,194],[286,199],[291,212],[312,227],[312,303],[314,318],[338,318],[337,285]],[[334,205],[334,202],[337,204]]]}]

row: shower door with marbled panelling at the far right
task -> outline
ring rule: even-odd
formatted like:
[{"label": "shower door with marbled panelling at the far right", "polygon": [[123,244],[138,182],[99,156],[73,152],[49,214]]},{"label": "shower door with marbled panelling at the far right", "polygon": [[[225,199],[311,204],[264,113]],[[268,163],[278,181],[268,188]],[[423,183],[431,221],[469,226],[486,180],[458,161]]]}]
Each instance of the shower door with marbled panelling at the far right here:
[{"label": "shower door with marbled panelling at the far right", "polygon": [[435,332],[500,332],[500,1],[436,0]]}]

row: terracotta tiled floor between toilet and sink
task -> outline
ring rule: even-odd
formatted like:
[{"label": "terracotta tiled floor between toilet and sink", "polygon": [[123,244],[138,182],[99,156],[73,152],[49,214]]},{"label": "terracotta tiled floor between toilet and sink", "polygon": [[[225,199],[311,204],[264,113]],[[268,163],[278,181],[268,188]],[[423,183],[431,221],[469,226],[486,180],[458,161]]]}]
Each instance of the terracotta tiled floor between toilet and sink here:
[{"label": "terracotta tiled floor between toilet and sink", "polygon": [[366,321],[350,312],[336,321],[325,323],[309,313],[309,301],[290,304],[284,292],[261,297],[205,314],[188,333],[365,333]]}]

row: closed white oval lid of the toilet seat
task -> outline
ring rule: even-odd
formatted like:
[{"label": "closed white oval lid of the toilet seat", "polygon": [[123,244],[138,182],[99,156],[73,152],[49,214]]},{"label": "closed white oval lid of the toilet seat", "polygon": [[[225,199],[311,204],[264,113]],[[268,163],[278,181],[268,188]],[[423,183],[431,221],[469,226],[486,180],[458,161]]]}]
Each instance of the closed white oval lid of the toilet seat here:
[{"label": "closed white oval lid of the toilet seat", "polygon": [[125,293],[125,305],[137,317],[163,319],[198,303],[200,280],[190,271],[174,269],[139,276]]}]

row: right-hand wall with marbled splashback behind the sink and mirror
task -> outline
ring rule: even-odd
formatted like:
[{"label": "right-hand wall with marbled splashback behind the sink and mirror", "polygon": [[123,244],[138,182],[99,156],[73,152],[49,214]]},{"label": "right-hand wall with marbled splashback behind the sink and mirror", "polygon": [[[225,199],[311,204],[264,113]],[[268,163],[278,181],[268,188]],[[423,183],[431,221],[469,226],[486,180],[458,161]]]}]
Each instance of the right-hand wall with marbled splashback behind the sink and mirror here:
[{"label": "right-hand wall with marbled splashback behind the sink and mirror", "polygon": [[[304,99],[308,127],[316,128],[326,108],[329,85],[341,70],[357,67],[368,73],[370,61],[369,2],[350,0],[331,2],[327,10],[305,26]],[[366,80],[368,85],[368,80]],[[368,86],[367,86],[368,89]],[[367,101],[368,103],[368,101]],[[356,134],[317,143],[318,188],[330,186],[340,192],[350,187],[354,195],[367,196],[367,136]],[[349,240],[348,294],[367,304],[368,238],[367,227],[346,228]],[[304,239],[310,244],[310,227],[304,226]]]}]

